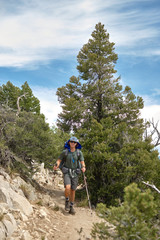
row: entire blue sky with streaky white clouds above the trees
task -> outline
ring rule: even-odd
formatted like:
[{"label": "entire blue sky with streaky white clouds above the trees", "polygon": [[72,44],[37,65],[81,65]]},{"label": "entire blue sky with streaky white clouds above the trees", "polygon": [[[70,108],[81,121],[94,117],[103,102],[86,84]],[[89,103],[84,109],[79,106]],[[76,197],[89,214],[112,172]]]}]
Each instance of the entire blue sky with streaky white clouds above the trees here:
[{"label": "entire blue sky with streaky white clouds above the trees", "polygon": [[121,84],[144,99],[141,116],[158,122],[159,0],[0,0],[0,86],[27,81],[46,121],[55,124],[57,88],[78,76],[78,52],[99,22],[115,43]]}]

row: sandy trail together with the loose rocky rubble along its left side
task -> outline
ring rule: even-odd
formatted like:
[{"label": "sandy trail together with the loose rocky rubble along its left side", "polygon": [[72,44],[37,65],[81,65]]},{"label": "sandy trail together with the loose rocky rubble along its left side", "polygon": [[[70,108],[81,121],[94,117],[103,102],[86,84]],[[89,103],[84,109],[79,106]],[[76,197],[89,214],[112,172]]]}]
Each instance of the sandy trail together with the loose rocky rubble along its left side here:
[{"label": "sandy trail together with the loose rocky rubble along its left side", "polygon": [[[90,235],[92,225],[101,221],[95,212],[76,205],[75,215],[66,212],[63,186],[55,188],[52,195],[45,206],[41,206],[40,203],[32,204],[33,214],[27,220],[24,218],[23,221],[19,221],[18,229],[12,235],[11,240],[92,239]],[[42,195],[42,200],[46,198],[47,195]]]}]

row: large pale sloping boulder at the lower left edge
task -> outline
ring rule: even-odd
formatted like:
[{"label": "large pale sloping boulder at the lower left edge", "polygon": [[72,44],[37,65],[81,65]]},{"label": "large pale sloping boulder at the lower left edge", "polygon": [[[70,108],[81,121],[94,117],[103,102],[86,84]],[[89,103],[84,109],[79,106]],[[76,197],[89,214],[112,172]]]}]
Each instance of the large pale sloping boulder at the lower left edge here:
[{"label": "large pale sloping boulder at the lower left edge", "polygon": [[8,174],[0,172],[0,239],[10,237],[17,229],[15,213],[26,218],[33,213],[33,208],[23,191]]}]

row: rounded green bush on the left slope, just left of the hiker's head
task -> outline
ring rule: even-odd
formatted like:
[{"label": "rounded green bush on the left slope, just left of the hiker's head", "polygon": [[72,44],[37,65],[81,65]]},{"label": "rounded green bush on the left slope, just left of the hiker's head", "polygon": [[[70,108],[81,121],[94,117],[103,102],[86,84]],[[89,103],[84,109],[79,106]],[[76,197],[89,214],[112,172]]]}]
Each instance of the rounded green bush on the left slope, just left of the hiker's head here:
[{"label": "rounded green bush on the left slope, just left of the hiker's head", "polygon": [[43,115],[28,112],[22,112],[14,125],[8,124],[5,135],[9,149],[16,155],[45,162],[47,167],[53,166],[64,143],[63,134],[51,130]]}]

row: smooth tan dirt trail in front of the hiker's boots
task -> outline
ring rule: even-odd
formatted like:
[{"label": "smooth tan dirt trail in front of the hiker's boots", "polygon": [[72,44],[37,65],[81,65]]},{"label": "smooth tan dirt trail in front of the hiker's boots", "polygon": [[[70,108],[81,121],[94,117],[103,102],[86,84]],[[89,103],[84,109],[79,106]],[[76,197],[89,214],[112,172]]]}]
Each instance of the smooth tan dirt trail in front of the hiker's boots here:
[{"label": "smooth tan dirt trail in front of the hiker's boots", "polygon": [[60,207],[60,216],[57,222],[57,232],[55,239],[57,240],[78,240],[91,239],[91,229],[93,223],[100,222],[101,219],[94,211],[89,208],[77,207],[75,204],[75,215],[71,215],[64,210],[64,189],[54,190],[54,201]]}]

